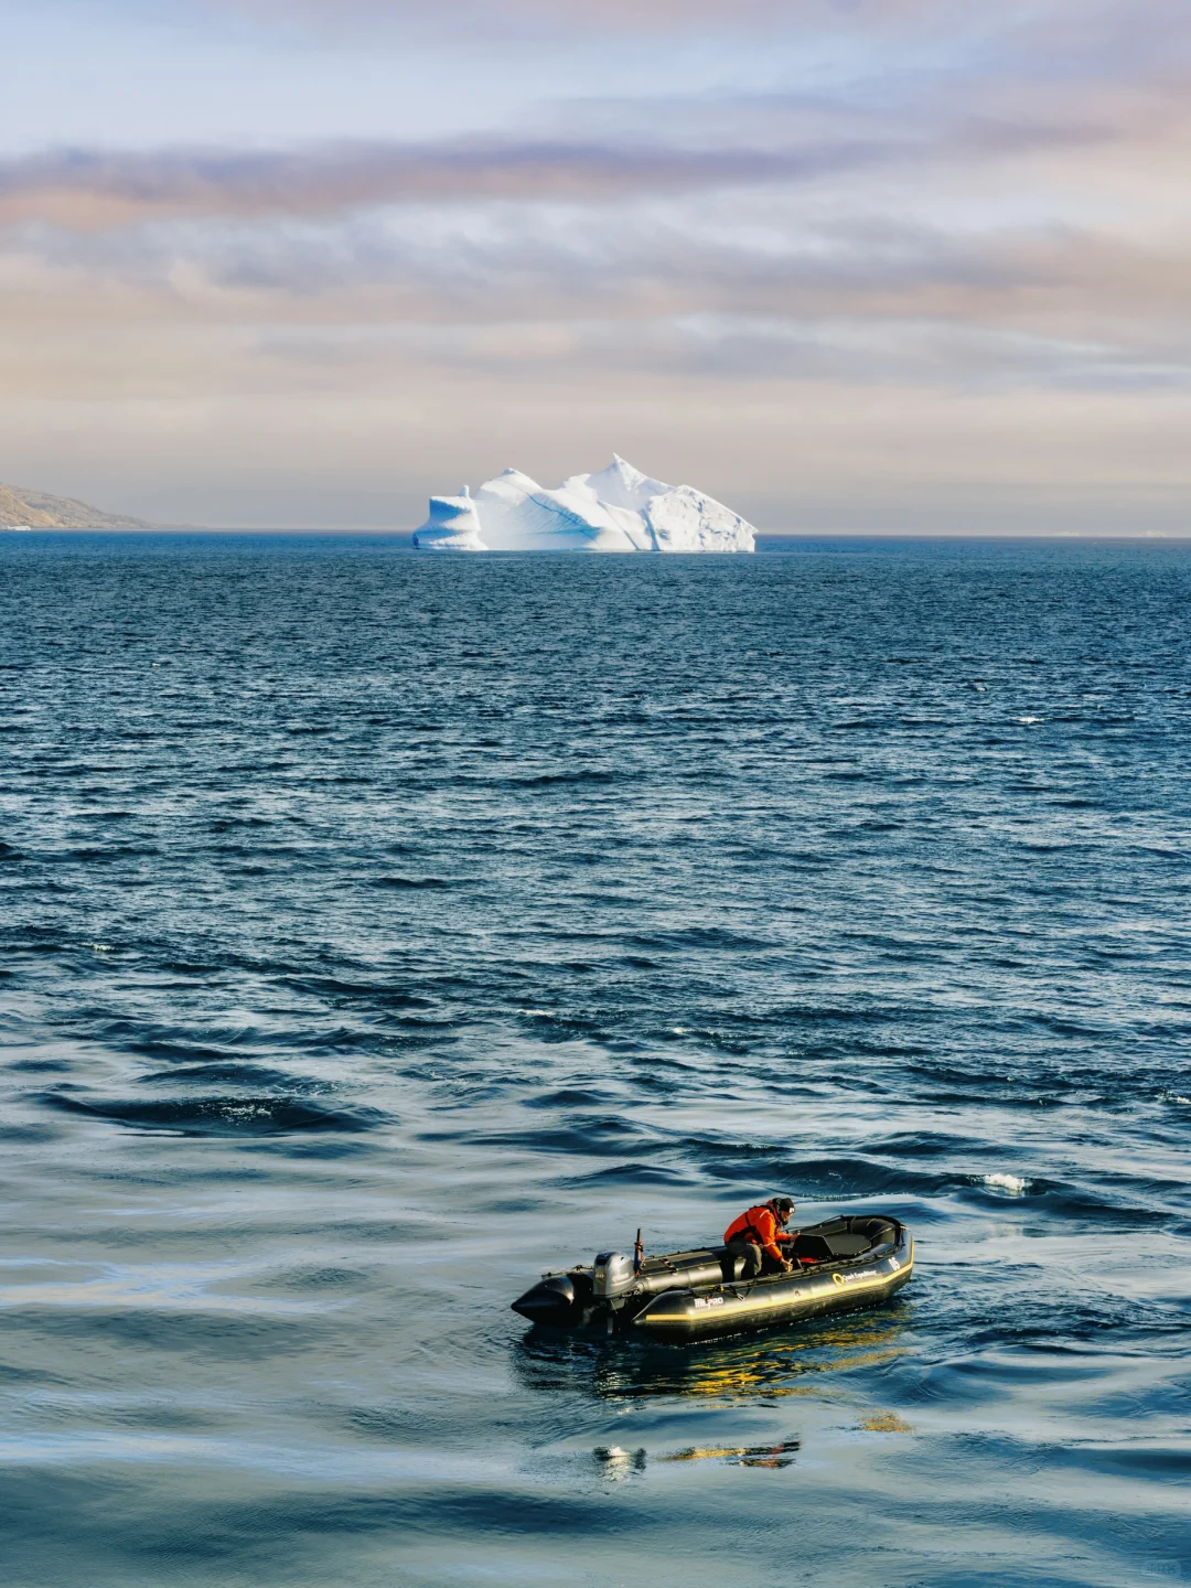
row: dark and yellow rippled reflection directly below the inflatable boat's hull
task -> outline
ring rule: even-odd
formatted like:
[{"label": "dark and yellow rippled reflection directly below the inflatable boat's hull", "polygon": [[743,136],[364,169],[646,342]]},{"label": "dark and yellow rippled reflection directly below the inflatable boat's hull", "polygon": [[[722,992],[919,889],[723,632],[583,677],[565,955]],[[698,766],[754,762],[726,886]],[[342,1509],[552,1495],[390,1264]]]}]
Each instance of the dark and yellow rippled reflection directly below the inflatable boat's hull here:
[{"label": "dark and yellow rippled reflection directly below the inflatable boat's hull", "polygon": [[908,1350],[905,1305],[824,1318],[791,1334],[738,1336],[691,1345],[607,1340],[530,1329],[516,1370],[530,1390],[567,1390],[602,1401],[692,1397],[777,1401],[823,1394],[823,1374],[878,1366]]}]

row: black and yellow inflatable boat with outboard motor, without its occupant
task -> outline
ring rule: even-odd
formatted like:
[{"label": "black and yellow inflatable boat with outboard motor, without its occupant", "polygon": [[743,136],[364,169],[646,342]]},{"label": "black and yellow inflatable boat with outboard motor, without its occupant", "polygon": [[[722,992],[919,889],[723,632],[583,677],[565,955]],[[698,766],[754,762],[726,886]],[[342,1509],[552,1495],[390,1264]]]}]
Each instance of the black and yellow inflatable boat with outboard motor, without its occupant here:
[{"label": "black and yellow inflatable boat with outboard motor, without its occupant", "polygon": [[640,1329],[657,1340],[699,1340],[745,1329],[799,1323],[826,1312],[875,1307],[907,1285],[913,1239],[886,1213],[811,1224],[786,1248],[789,1274],[742,1278],[745,1259],[726,1247],[669,1251],[659,1258],[602,1251],[542,1280],[513,1312],[554,1329]]}]

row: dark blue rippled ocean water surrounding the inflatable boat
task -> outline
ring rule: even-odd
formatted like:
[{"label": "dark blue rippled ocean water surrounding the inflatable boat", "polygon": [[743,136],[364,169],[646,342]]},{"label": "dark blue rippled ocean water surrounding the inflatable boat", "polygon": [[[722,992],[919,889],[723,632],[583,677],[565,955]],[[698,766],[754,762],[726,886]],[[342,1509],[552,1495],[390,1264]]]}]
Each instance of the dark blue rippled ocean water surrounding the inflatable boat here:
[{"label": "dark blue rippled ocean water surrounding the inflatable boat", "polygon": [[[1191,1578],[1191,548],[0,537],[8,1588]],[[891,1305],[538,1339],[888,1208]]]}]

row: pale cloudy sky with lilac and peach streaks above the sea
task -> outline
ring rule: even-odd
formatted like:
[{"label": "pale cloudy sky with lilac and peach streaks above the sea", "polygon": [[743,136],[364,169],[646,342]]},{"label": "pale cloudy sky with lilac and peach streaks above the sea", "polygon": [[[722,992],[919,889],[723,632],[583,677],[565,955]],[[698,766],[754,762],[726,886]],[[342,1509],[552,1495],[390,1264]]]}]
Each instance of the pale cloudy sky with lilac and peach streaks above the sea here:
[{"label": "pale cloudy sky with lilac and peach streaks above the sea", "polygon": [[1186,0],[0,0],[0,480],[1191,534]]}]

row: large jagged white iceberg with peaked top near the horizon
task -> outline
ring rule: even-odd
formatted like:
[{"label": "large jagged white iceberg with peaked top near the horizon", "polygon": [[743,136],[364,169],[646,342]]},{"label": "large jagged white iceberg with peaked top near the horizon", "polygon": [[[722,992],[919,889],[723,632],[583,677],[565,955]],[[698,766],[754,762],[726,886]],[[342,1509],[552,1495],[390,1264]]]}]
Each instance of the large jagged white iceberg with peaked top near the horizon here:
[{"label": "large jagged white iceberg with peaked top near the horizon", "polygon": [[507,468],[472,497],[430,497],[422,551],[756,551],[756,530],[691,486],[651,480],[622,457],[548,491]]}]

